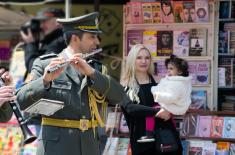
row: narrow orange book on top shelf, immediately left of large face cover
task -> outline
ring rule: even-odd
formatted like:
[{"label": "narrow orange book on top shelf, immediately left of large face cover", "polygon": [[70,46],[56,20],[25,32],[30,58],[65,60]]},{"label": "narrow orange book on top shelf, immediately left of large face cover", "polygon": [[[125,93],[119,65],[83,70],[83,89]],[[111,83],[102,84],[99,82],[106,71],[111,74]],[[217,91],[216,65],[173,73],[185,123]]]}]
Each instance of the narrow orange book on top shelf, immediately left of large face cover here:
[{"label": "narrow orange book on top shelf, immediately left of large face cover", "polygon": [[160,2],[153,2],[152,4],[152,15],[153,15],[153,23],[161,23],[161,3]]}]

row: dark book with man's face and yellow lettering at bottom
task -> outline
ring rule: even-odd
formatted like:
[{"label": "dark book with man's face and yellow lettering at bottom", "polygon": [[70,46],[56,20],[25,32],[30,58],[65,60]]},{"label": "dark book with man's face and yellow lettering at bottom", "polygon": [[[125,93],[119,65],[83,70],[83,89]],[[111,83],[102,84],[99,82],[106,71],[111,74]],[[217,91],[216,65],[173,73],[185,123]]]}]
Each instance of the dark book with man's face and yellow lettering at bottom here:
[{"label": "dark book with man's face and yellow lettering at bottom", "polygon": [[157,56],[170,56],[173,53],[173,31],[157,32]]}]

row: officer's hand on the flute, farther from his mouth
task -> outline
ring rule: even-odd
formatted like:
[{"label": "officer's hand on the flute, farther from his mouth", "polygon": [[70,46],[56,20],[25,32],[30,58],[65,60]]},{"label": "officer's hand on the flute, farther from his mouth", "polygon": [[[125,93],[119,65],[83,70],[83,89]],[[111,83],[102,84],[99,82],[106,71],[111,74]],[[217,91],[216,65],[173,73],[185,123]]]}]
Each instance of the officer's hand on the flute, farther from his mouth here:
[{"label": "officer's hand on the flute, farther from his mouth", "polygon": [[64,62],[65,62],[65,60],[63,58],[51,59],[50,64],[44,70],[43,82],[44,82],[45,86],[47,86],[52,80],[56,79],[61,74],[61,72],[64,70],[64,67],[57,69],[56,71],[51,72],[51,73],[47,72],[48,69],[50,69],[58,64],[62,64]]}]

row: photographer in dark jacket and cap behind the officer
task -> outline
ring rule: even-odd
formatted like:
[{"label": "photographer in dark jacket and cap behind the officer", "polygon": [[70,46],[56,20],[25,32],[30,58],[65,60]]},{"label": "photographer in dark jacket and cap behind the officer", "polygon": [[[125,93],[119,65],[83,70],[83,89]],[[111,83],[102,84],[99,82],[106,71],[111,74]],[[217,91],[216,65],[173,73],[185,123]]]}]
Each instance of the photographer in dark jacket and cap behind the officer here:
[{"label": "photographer in dark jacket and cap behind the officer", "polygon": [[[63,18],[64,16],[64,11],[61,9],[51,7],[43,8],[39,10],[37,15],[31,20],[32,23],[34,22],[36,24],[36,22],[38,22],[40,24],[38,30],[33,29],[37,32],[32,31],[31,28],[27,29],[27,33],[21,30],[21,36],[25,42],[23,46],[26,66],[24,82],[29,81],[29,74],[36,58],[50,53],[58,54],[66,47],[61,24],[56,21],[58,18]],[[33,25],[31,27],[33,27]],[[34,27],[36,27],[36,25],[34,25]],[[41,39],[35,34],[42,34]],[[26,113],[24,113],[24,115],[25,117],[31,117],[28,123],[35,125],[37,135],[39,135],[41,124],[40,116],[30,116]]]}]

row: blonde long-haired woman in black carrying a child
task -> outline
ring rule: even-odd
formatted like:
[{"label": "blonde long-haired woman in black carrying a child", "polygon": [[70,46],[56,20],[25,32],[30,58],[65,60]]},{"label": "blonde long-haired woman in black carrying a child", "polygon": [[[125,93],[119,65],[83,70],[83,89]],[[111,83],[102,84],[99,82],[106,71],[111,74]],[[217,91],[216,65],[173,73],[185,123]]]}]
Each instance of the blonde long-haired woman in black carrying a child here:
[{"label": "blonde long-haired woman in black carrying a child", "polygon": [[[171,114],[164,109],[157,109],[158,105],[154,102],[151,93],[151,87],[157,85],[152,75],[152,58],[149,50],[141,45],[134,45],[123,67],[121,84],[125,88],[126,94],[131,100],[128,104],[122,106],[123,113],[127,120],[130,130],[130,144],[133,155],[160,155],[161,153],[155,149],[155,141],[141,143],[140,139],[146,135],[146,123],[148,118],[152,118],[155,125],[154,129],[160,127],[169,127],[175,130],[171,121]],[[158,116],[155,118],[155,116]],[[147,118],[147,119],[146,119]],[[176,130],[175,130],[176,131]],[[137,142],[139,140],[139,142]],[[178,152],[170,154],[182,154],[182,147],[179,142]]]}]

